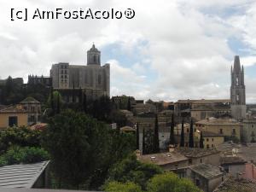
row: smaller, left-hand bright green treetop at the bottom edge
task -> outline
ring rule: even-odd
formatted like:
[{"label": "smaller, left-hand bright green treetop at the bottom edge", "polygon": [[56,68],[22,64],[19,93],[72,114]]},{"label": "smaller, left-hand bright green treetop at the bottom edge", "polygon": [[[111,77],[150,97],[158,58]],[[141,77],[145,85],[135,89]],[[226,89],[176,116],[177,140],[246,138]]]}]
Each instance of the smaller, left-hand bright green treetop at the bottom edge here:
[{"label": "smaller, left-hand bright green treetop at the bottom edge", "polygon": [[104,191],[107,192],[143,192],[142,188],[132,182],[119,183],[119,182],[110,182],[104,186]]}]

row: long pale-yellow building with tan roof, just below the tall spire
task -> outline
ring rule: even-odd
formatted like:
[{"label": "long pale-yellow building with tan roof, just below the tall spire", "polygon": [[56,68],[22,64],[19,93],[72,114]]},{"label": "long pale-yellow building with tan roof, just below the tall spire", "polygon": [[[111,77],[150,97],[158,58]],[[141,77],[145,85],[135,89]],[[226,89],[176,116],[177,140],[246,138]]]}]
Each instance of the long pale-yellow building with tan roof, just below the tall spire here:
[{"label": "long pale-yellow building with tan roof, just below the tall spire", "polygon": [[224,135],[225,137],[236,137],[241,139],[241,123],[235,119],[207,118],[195,122],[195,128],[200,131],[209,131]]}]

